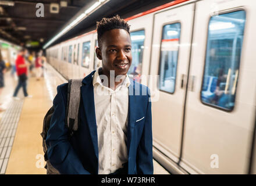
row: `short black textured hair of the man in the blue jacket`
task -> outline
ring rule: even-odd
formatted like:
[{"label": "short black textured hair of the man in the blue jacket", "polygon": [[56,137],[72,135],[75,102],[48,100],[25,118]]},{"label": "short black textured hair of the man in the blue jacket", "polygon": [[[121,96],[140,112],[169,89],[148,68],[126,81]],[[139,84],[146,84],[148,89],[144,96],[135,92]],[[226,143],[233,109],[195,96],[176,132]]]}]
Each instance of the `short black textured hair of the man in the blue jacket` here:
[{"label": "short black textured hair of the man in the blue jacket", "polygon": [[124,29],[130,35],[130,25],[126,22],[126,20],[121,19],[119,15],[113,16],[111,18],[103,18],[99,22],[97,22],[97,34],[98,34],[98,45],[99,48],[102,47],[102,36],[106,31],[112,29]]}]

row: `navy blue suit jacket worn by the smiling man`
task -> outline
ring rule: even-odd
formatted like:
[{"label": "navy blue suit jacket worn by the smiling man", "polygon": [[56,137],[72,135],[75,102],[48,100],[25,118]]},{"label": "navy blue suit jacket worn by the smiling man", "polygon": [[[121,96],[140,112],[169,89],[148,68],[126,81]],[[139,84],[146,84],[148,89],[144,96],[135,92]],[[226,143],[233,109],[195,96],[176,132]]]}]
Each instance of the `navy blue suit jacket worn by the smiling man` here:
[{"label": "navy blue suit jacket worn by the smiling man", "polygon": [[[98,174],[98,135],[92,78],[94,72],[83,79],[79,112],[80,126],[70,139],[65,126],[67,83],[57,87],[57,95],[54,98],[55,110],[46,144],[48,159],[61,174]],[[141,95],[143,89],[147,92]],[[149,100],[149,89],[131,81],[127,128],[128,174],[153,174],[151,102]]]}]

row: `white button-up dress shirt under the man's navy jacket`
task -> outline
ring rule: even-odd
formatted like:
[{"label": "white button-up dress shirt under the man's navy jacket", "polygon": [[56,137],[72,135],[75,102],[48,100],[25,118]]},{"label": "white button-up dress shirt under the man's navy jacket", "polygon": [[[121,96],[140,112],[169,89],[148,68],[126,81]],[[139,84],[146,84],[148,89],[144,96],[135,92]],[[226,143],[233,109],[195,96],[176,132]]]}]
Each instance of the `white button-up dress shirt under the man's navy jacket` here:
[{"label": "white button-up dress shirt under the man's navy jacket", "polygon": [[101,83],[98,70],[93,76],[95,116],[98,133],[98,174],[110,174],[127,162],[129,77],[112,90]]}]

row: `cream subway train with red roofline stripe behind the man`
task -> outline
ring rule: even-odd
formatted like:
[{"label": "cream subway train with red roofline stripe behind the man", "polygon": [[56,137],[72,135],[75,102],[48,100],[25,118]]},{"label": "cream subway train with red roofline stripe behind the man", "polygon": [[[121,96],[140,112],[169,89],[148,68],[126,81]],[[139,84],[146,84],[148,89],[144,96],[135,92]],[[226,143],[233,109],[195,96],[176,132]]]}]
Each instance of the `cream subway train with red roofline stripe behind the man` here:
[{"label": "cream subway train with red roofline stripe behind the man", "polygon": [[[255,17],[252,0],[177,0],[126,19],[129,77],[158,92],[153,155],[170,173],[256,174]],[[47,48],[47,59],[81,78],[101,66],[95,47],[93,30]]]}]

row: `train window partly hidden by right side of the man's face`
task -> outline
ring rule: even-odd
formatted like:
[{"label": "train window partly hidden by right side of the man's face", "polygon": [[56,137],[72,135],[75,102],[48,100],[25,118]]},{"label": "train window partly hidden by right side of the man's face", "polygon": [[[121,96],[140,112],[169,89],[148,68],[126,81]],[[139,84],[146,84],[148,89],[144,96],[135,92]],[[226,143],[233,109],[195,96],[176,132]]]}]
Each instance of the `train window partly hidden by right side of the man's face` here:
[{"label": "train window partly hidden by right side of the man's face", "polygon": [[133,63],[131,63],[130,69],[128,71],[128,76],[140,82],[141,69],[142,69],[142,60],[143,60],[143,51],[144,51],[144,40],[145,40],[145,31],[133,31],[131,35],[131,55],[133,56]]}]

